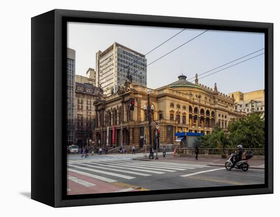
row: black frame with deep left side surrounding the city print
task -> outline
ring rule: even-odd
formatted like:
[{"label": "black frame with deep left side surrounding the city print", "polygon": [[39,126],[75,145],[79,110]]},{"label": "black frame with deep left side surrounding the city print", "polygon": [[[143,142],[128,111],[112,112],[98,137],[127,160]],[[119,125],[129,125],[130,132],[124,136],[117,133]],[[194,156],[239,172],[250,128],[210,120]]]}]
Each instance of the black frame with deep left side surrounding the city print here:
[{"label": "black frame with deep left side surrounding the city print", "polygon": [[[66,195],[66,34],[68,21],[261,32],[265,34],[265,184]],[[53,207],[273,193],[273,23],[52,10],[32,23],[31,198]]]}]

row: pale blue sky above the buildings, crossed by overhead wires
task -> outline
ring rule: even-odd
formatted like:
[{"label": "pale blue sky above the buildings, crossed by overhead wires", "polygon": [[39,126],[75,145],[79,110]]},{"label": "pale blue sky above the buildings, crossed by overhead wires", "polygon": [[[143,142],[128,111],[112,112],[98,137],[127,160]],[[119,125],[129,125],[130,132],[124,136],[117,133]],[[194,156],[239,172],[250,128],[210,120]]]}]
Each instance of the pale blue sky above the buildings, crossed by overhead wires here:
[{"label": "pale blue sky above the buildings, crossed by overhead wires", "polygon": [[[144,55],[179,33],[183,29],[157,28],[116,24],[68,22],[67,47],[76,51],[76,74],[86,75],[88,68],[95,67],[95,53],[118,42]],[[147,64],[175,49],[205,30],[186,29],[151,53]],[[235,59],[264,48],[263,33],[209,30],[169,55],[147,67],[147,87],[155,89],[178,80],[182,73],[190,79],[199,75],[199,83],[219,92],[229,94],[264,89],[264,55],[240,63],[231,68],[203,76],[249,59],[264,52],[261,50],[232,64],[213,70]],[[201,77],[201,79],[200,79]]]}]

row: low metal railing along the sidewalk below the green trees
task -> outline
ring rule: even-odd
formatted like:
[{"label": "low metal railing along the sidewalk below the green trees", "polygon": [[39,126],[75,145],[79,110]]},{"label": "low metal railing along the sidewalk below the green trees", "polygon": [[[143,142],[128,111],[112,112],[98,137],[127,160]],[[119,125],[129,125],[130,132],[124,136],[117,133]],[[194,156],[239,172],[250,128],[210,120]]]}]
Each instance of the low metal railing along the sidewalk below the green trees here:
[{"label": "low metal railing along the sidewalk below the green trees", "polygon": [[[176,149],[177,154],[195,154],[194,148],[178,148]],[[200,148],[199,154],[217,154],[217,155],[229,155],[233,152],[237,152],[236,148]],[[243,152],[252,151],[253,155],[264,155],[264,148],[244,148]]]}]

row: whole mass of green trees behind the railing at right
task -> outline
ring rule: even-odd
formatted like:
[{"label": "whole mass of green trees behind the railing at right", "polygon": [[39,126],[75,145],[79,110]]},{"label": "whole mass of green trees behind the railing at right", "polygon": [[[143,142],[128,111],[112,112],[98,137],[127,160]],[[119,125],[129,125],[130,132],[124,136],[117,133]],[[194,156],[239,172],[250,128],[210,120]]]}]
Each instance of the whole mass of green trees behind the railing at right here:
[{"label": "whole mass of green trees behind the railing at right", "polygon": [[231,121],[228,132],[216,125],[212,133],[199,137],[202,148],[264,148],[264,118],[261,113],[252,113]]}]

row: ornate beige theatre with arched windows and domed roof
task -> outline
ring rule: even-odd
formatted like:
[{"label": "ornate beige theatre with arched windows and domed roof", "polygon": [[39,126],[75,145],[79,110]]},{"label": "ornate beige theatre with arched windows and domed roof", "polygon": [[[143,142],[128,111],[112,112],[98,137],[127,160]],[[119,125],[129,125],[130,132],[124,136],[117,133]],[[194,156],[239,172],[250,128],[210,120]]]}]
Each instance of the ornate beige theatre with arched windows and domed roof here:
[{"label": "ornate beige theatre with arched windows and domed roof", "polygon": [[[95,102],[96,144],[143,147],[145,139],[149,141],[148,119],[143,110],[148,103],[147,89],[127,80],[117,93]],[[227,130],[230,120],[242,115],[234,111],[233,97],[220,93],[216,84],[213,89],[199,84],[198,78],[193,84],[180,75],[170,85],[149,90],[150,105],[154,105],[152,141],[157,123],[160,144],[174,144],[178,131],[210,133],[215,124]],[[135,100],[134,111],[129,110],[130,98]]]}]

